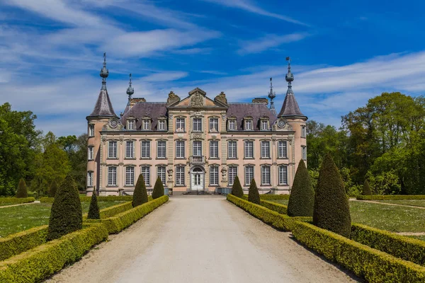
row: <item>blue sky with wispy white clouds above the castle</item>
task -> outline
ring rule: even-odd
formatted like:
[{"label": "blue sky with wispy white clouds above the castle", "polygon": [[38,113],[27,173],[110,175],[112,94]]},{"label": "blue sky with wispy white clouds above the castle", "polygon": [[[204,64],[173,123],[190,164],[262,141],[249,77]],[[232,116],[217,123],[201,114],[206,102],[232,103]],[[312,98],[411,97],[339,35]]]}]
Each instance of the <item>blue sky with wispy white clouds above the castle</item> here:
[{"label": "blue sky with wispy white clouds above the castle", "polygon": [[[373,2],[373,4],[371,3]],[[0,0],[0,103],[57,135],[86,132],[107,53],[108,92],[164,101],[200,87],[230,101],[293,91],[310,119],[341,115],[383,91],[425,90],[424,1]]]}]

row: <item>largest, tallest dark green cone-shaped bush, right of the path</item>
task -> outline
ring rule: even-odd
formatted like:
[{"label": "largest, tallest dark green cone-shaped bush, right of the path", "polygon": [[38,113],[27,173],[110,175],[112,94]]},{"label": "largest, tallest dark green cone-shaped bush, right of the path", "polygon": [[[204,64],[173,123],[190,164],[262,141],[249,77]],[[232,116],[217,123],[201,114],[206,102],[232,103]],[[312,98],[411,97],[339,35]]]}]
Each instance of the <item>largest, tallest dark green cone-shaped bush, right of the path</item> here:
[{"label": "largest, tallest dark green cone-shaped bush, right of the path", "polygon": [[313,223],[347,238],[350,236],[351,216],[344,182],[330,154],[324,156],[319,171]]}]

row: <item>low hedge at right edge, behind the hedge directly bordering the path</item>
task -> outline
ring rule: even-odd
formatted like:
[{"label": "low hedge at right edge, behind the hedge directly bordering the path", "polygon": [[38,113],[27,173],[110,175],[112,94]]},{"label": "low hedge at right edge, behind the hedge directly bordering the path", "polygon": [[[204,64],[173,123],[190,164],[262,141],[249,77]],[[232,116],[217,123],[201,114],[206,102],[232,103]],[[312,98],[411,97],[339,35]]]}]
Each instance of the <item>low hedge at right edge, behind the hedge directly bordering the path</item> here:
[{"label": "low hedge at right edge, behind the hedge directly bordering the path", "polygon": [[400,236],[362,224],[351,225],[351,240],[425,266],[425,241]]}]

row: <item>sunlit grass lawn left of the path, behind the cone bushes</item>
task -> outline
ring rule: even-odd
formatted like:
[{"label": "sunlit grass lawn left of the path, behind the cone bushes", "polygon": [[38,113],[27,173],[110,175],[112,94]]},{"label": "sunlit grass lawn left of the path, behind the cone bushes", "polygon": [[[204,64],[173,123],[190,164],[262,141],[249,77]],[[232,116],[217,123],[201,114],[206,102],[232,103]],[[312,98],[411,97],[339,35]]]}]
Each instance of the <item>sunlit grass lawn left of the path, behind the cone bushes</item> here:
[{"label": "sunlit grass lawn left of the path, behind the cone bushes", "polygon": [[[98,202],[99,209],[123,202]],[[26,204],[0,209],[0,238],[49,223],[51,203]],[[83,213],[89,211],[90,202],[81,202]]]}]

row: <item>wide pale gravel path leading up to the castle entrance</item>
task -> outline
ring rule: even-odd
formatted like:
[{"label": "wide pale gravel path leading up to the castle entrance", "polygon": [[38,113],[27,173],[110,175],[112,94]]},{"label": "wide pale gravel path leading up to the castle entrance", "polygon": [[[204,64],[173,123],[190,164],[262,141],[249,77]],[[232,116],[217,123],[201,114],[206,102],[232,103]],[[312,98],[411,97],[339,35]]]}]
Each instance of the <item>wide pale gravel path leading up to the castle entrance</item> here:
[{"label": "wide pale gravel path leading up to the castle entrance", "polygon": [[172,197],[47,282],[356,282],[217,196]]}]

